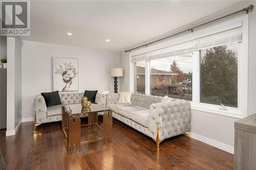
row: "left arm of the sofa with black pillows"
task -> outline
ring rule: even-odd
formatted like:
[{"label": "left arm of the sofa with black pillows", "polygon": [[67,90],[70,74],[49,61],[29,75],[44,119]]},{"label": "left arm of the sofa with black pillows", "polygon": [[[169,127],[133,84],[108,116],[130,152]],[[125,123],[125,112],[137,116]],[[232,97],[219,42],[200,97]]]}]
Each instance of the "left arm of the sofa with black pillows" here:
[{"label": "left arm of the sofa with black pillows", "polygon": [[41,94],[36,95],[34,99],[34,113],[36,115],[36,119],[47,117],[46,112],[47,107],[45,98]]}]

